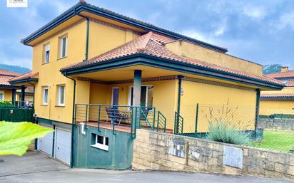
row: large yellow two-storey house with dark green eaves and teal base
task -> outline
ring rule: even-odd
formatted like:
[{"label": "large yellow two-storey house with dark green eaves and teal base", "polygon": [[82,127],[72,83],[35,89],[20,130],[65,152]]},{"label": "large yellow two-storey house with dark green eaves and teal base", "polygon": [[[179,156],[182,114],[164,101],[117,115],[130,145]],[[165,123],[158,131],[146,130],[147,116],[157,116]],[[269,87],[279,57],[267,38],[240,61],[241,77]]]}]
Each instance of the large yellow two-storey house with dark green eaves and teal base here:
[{"label": "large yellow two-storey house with dark green eaves and teal base", "polygon": [[196,103],[250,105],[242,122],[255,130],[260,90],[284,86],[225,48],[84,1],[22,43],[33,47],[33,69],[11,83],[35,85],[39,124],[55,130],[38,148],[74,167],[130,167],[138,111],[149,129],[151,115],[171,132],[181,117],[195,124]]}]

